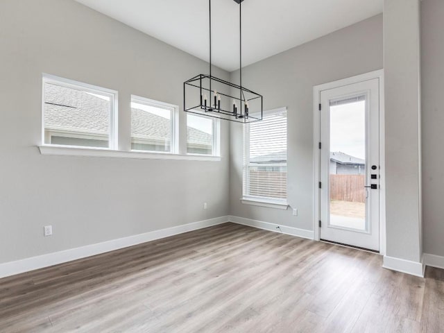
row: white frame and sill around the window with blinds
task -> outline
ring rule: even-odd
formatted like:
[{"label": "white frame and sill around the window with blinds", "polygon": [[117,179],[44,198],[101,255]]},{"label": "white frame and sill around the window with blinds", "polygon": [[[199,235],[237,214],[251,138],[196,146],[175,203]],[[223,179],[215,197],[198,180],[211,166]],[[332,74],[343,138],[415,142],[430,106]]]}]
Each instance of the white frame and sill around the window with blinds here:
[{"label": "white frame and sill around the window with blinds", "polygon": [[[273,110],[264,111],[264,117],[271,116],[273,114],[279,114],[282,112],[287,113],[287,108],[277,108]],[[288,117],[287,117],[287,141],[288,141]],[[248,173],[248,167],[250,166],[249,156],[250,156],[250,123],[247,123],[244,127],[244,158],[242,161],[242,198],[241,203],[244,203],[246,205],[255,205],[255,206],[262,206],[262,207],[268,207],[268,208],[276,208],[281,210],[287,210],[289,207],[288,200],[288,193],[287,198],[278,199],[278,198],[266,198],[262,196],[249,196],[248,195],[248,189],[246,187],[249,184],[249,173]],[[273,164],[278,165],[278,164]],[[281,164],[282,165],[282,164]],[[266,164],[266,166],[270,166],[270,164]],[[287,175],[288,175],[288,146],[287,146],[287,162],[285,163],[285,166],[287,167]],[[287,178],[287,188],[288,188],[288,178]]]}]

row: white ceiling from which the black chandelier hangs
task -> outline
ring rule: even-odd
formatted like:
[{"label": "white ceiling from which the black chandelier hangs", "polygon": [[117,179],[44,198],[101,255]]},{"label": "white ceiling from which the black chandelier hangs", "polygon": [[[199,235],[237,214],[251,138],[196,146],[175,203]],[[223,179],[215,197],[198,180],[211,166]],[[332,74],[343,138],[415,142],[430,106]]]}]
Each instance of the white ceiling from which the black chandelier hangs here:
[{"label": "white ceiling from which the black chandelier hangs", "polygon": [[[209,0],[76,0],[187,53],[209,60]],[[383,0],[245,0],[242,66],[382,12]],[[212,1],[212,63],[239,68],[239,5]]]}]

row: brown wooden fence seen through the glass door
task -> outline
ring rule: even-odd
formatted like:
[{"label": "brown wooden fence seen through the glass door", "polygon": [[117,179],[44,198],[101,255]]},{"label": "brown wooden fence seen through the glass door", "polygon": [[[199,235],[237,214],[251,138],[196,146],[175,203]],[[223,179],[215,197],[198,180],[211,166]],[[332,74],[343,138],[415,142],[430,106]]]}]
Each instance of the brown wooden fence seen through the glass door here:
[{"label": "brown wooden fence seen through the glass door", "polygon": [[330,175],[330,200],[366,202],[364,175]]}]

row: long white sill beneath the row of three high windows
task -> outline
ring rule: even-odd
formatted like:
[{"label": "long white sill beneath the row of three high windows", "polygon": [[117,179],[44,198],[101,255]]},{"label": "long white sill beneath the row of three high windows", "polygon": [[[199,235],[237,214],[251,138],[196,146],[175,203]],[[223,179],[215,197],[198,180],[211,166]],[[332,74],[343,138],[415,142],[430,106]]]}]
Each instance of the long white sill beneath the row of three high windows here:
[{"label": "long white sill beneath the row of three high windows", "polygon": [[220,156],[180,155],[171,153],[151,153],[145,151],[113,151],[106,148],[78,146],[42,145],[38,146],[42,155],[83,156],[83,157],[118,157],[139,160],[191,160],[219,162]]}]

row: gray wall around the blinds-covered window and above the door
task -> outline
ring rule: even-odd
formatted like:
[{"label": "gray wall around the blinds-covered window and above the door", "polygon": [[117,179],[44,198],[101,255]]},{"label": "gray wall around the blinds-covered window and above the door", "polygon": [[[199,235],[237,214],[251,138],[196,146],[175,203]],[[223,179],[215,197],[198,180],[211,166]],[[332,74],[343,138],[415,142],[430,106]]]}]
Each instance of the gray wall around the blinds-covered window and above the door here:
[{"label": "gray wall around the blinds-covered window and above the door", "polygon": [[[382,15],[343,28],[243,69],[245,87],[264,95],[264,110],[288,108],[291,210],[243,205],[242,127],[231,126],[230,211],[234,216],[313,230],[313,87],[382,68]],[[239,72],[231,75],[239,80]]]}]

